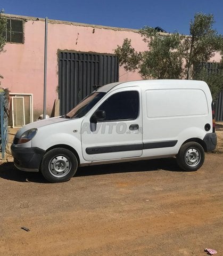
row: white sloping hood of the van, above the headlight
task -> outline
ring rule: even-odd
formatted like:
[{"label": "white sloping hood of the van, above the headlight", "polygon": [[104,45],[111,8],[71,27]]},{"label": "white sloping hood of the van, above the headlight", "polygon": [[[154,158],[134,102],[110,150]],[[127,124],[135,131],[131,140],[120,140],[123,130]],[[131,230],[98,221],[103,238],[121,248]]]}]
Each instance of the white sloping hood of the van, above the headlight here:
[{"label": "white sloping hood of the van, above the headlight", "polygon": [[16,132],[15,137],[20,138],[20,136],[24,132],[26,132],[27,130],[32,129],[32,128],[38,129],[39,127],[42,127],[42,126],[46,126],[49,124],[55,124],[55,123],[59,123],[59,122],[65,122],[65,121],[69,121],[69,120],[71,120],[71,119],[65,118],[65,117],[64,118],[63,117],[52,117],[52,118],[47,118],[44,120],[36,121],[36,122],[33,122],[33,123],[23,126],[20,130],[18,130],[18,132]]}]

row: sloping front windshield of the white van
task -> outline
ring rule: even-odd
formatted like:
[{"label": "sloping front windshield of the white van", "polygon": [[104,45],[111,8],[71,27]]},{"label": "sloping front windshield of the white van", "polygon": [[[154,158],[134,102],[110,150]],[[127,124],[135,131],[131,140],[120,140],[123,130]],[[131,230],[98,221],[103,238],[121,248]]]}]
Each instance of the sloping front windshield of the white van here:
[{"label": "sloping front windshield of the white van", "polygon": [[80,103],[70,110],[70,112],[65,115],[67,118],[80,118],[88,113],[88,111],[95,106],[95,104],[101,100],[101,98],[106,94],[106,92],[93,92],[89,94],[85,99],[80,101]]}]

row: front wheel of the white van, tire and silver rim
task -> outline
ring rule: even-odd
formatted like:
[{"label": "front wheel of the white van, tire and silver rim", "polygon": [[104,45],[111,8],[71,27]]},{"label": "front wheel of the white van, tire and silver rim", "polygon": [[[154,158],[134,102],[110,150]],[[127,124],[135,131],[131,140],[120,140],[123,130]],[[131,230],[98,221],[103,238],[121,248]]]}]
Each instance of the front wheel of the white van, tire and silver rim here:
[{"label": "front wheel of the white van, tire and silver rim", "polygon": [[75,175],[77,157],[68,149],[54,148],[43,156],[40,171],[49,182],[64,182]]}]

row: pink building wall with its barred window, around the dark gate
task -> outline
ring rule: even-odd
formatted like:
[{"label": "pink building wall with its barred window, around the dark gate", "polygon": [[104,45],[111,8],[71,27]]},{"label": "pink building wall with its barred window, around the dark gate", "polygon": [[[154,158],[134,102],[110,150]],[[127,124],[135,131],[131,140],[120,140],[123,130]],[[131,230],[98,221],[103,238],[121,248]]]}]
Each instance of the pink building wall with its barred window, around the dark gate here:
[{"label": "pink building wall with its barred window, around the dark gate", "polygon": [[[43,114],[45,19],[4,16],[8,32],[0,54],[1,86],[10,90],[11,123],[19,126]],[[138,30],[48,20],[47,114],[54,115],[57,106],[60,114],[66,113],[93,85],[141,79],[118,66],[114,49],[125,38],[137,51],[147,49]]]}]

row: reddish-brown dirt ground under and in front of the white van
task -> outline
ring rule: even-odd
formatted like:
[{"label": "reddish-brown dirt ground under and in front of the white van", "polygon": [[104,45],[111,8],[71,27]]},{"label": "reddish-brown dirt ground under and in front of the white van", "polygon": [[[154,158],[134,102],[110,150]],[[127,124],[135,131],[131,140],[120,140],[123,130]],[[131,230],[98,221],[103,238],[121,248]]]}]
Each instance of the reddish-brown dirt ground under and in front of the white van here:
[{"label": "reddish-brown dirt ground under and in front of the white van", "polygon": [[16,170],[7,155],[0,255],[199,256],[205,247],[223,255],[223,123],[217,135],[217,150],[196,172],[166,158],[81,167],[51,184]]}]

